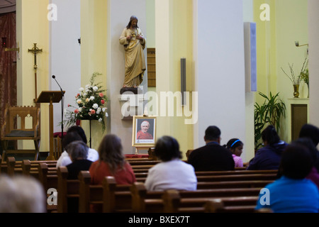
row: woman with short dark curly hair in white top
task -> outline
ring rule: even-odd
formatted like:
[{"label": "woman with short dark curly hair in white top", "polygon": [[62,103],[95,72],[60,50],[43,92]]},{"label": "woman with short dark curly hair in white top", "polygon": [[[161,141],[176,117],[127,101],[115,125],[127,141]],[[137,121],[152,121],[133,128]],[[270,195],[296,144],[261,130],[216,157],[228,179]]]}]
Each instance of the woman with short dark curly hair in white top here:
[{"label": "woman with short dark curly hair in white top", "polygon": [[147,190],[196,190],[197,178],[194,167],[181,160],[177,140],[167,135],[159,138],[155,145],[155,155],[162,162],[148,171],[145,180]]}]

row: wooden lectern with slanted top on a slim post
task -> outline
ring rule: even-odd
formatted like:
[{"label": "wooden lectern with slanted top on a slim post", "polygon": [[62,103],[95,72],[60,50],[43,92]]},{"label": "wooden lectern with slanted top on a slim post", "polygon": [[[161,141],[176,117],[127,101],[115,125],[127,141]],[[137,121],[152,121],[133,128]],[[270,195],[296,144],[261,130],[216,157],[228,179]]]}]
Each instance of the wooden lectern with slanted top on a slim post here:
[{"label": "wooden lectern with slanted top on a slim post", "polygon": [[[65,91],[63,91],[65,94]],[[44,91],[41,92],[37,99],[37,103],[49,103],[49,121],[50,121],[50,154],[47,160],[55,160],[53,155],[53,103],[59,103],[62,99],[61,91]]]}]

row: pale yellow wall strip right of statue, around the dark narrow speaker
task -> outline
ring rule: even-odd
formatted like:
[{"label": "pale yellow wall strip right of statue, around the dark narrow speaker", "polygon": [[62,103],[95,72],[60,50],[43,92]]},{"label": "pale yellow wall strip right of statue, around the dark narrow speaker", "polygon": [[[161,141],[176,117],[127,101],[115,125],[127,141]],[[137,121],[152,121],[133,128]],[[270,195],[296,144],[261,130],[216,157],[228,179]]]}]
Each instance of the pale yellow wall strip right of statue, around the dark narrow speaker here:
[{"label": "pale yellow wall strip right of statue, around the dark narrow speaker", "polygon": [[[156,16],[156,50],[157,50],[157,84],[156,91],[180,91],[180,59],[186,57],[186,90],[193,90],[193,1],[155,1]],[[161,67],[165,65],[165,67]],[[160,101],[160,99],[159,99]],[[160,105],[159,105],[160,108]],[[177,116],[177,111],[184,113],[182,106],[174,105],[174,116],[158,118],[157,135],[172,135],[177,138],[180,150],[185,153],[193,149],[193,125],[186,125],[183,116]],[[160,114],[160,109],[159,109]]]}]

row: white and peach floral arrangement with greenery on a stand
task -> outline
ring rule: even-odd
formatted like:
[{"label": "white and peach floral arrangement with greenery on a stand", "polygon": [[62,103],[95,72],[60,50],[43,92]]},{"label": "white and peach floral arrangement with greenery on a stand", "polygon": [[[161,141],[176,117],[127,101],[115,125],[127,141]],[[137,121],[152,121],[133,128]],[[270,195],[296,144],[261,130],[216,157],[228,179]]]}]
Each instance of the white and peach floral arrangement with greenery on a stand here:
[{"label": "white and peach floral arrangement with greenery on a stand", "polygon": [[106,111],[108,98],[106,89],[103,89],[101,83],[96,83],[95,79],[101,75],[99,72],[94,72],[90,79],[90,84],[86,84],[85,87],[79,89],[79,93],[75,96],[75,102],[77,106],[68,105],[72,107],[72,110],[67,109],[65,111],[66,120],[63,121],[65,126],[74,126],[78,121],[89,120],[90,128],[90,148],[91,148],[91,121],[99,121],[102,125],[102,131],[106,129],[105,118],[108,117]]}]

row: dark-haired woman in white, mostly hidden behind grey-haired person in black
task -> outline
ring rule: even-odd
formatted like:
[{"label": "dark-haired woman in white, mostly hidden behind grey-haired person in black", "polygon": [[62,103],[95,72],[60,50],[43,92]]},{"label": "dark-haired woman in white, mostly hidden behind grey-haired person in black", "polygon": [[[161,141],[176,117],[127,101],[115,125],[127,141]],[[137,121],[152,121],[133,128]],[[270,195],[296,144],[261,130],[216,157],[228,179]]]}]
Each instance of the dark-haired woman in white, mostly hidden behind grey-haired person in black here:
[{"label": "dark-haired woman in white, mostly hidden behind grey-haired person in black", "polygon": [[[72,135],[68,136],[69,133],[72,133]],[[76,133],[77,135],[74,135],[74,133]],[[60,155],[59,159],[57,160],[57,167],[67,166],[70,163],[72,163],[71,159],[69,158],[69,154],[67,153],[65,148],[69,143],[73,142],[74,140],[82,140],[85,144],[87,144],[87,138],[81,126],[71,126],[67,130],[67,134],[65,135],[65,138],[63,138],[63,141],[62,141],[64,151]],[[87,159],[92,162],[99,160],[99,153],[97,152],[97,150],[89,148],[87,153]]]}]

